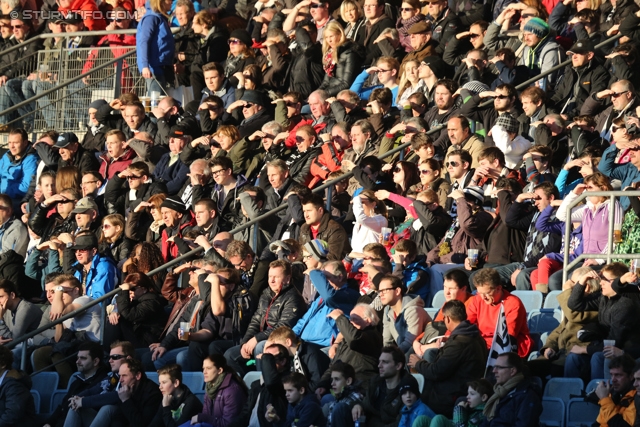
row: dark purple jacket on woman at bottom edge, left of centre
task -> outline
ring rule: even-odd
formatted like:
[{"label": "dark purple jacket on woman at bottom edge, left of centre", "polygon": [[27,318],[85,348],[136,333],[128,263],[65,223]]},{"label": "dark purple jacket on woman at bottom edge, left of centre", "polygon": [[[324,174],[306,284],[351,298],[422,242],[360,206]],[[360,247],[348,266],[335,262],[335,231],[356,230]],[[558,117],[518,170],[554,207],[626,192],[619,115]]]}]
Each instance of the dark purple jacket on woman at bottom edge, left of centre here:
[{"label": "dark purple jacket on woman at bottom edge, left of centre", "polygon": [[198,414],[198,422],[214,427],[226,427],[240,414],[246,401],[247,393],[244,388],[233,375],[228,374],[218,389],[215,401],[205,394],[204,408],[203,412]]}]

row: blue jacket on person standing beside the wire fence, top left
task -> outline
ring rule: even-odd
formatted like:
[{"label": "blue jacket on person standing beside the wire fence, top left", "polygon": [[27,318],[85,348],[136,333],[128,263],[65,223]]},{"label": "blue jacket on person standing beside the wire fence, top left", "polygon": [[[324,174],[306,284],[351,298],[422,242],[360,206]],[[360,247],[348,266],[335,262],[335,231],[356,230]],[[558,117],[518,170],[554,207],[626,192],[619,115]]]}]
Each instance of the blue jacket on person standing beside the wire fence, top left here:
[{"label": "blue jacket on person standing beside the wire fence, top left", "polygon": [[[162,67],[173,64],[175,42],[167,18],[151,10],[149,1],[145,4],[147,12],[138,23],[136,50],[138,51],[138,69],[149,67],[153,75],[163,76]],[[170,82],[172,83],[172,82]]]}]

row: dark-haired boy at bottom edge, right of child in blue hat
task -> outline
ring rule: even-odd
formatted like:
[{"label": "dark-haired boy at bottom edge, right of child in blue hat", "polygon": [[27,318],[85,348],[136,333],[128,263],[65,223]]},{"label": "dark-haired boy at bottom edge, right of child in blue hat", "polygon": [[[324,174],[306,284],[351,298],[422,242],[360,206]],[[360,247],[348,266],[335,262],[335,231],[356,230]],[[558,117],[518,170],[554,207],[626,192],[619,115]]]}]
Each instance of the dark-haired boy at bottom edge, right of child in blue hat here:
[{"label": "dark-haired boy at bottom edge, right of child in blue hat", "polygon": [[415,427],[478,427],[485,419],[483,414],[484,405],[493,395],[491,383],[484,378],[471,381],[467,390],[467,399],[458,403],[453,408],[453,421],[444,415],[436,415],[429,420],[427,417],[420,417]]}]

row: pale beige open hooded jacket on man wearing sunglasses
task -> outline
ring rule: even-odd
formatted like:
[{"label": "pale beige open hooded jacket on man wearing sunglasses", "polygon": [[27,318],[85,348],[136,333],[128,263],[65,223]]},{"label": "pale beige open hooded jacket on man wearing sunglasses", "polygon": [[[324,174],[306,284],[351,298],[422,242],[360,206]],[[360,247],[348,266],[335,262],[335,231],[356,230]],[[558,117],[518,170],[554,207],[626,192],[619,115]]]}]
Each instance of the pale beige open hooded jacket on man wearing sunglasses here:
[{"label": "pale beige open hooded jacket on man wearing sunglasses", "polygon": [[397,344],[406,353],[430,320],[422,298],[405,295],[398,315],[394,314],[391,307],[384,308],[382,342],[384,345]]}]

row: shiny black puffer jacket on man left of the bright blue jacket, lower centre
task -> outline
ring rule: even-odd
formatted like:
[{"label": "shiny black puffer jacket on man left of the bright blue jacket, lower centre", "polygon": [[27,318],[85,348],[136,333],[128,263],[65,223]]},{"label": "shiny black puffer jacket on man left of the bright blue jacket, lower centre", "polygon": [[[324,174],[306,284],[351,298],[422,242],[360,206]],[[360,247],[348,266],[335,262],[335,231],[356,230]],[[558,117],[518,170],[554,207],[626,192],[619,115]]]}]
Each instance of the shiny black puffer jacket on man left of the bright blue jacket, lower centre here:
[{"label": "shiny black puffer jacket on man left of the bright blue jacket, lower centre", "polygon": [[253,314],[242,344],[255,338],[258,342],[269,338],[269,334],[279,326],[293,326],[307,311],[307,304],[300,292],[291,284],[275,293],[267,287],[260,295],[258,309]]}]

